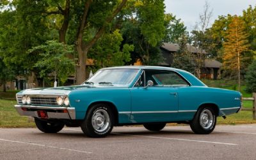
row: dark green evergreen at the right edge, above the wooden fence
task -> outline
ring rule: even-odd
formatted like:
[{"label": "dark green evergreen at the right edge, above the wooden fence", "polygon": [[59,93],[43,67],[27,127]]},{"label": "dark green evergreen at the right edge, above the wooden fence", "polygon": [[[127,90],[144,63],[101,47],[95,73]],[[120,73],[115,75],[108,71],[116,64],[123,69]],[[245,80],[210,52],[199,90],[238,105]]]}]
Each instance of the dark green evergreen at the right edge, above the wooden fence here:
[{"label": "dark green evergreen at the right edge, above the wooden fence", "polygon": [[246,91],[249,93],[256,93],[256,60],[248,67],[246,72],[245,81],[246,81]]}]

